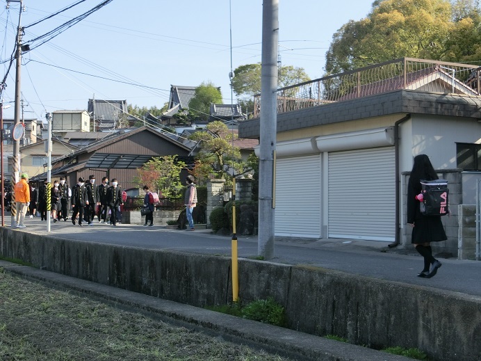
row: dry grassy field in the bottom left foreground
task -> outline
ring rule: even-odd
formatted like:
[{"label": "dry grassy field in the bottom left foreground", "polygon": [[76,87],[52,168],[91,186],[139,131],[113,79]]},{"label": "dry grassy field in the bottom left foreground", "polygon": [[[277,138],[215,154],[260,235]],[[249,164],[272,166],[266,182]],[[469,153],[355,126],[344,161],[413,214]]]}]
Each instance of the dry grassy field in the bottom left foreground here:
[{"label": "dry grassy field in the bottom left foreground", "polygon": [[0,360],[288,360],[150,319],[0,268]]}]

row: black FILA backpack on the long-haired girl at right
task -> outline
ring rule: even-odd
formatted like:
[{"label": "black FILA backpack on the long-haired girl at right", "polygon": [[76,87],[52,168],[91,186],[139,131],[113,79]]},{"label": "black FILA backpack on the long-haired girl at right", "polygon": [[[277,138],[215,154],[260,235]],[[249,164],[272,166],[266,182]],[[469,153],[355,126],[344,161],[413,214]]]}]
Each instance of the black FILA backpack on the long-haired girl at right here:
[{"label": "black FILA backpack on the long-haired girl at right", "polygon": [[421,194],[416,198],[420,201],[419,209],[424,216],[446,216],[449,213],[449,189],[446,179],[431,181],[421,179]]}]

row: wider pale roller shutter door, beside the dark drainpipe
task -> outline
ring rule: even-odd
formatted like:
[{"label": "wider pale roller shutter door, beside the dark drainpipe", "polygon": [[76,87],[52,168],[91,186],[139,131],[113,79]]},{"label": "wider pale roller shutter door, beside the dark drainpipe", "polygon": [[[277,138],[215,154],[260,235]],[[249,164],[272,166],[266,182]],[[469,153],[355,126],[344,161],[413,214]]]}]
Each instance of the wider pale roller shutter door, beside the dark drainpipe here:
[{"label": "wider pale roller shutter door, beside the dark drainpipe", "polygon": [[393,241],[394,148],[329,153],[329,237]]}]

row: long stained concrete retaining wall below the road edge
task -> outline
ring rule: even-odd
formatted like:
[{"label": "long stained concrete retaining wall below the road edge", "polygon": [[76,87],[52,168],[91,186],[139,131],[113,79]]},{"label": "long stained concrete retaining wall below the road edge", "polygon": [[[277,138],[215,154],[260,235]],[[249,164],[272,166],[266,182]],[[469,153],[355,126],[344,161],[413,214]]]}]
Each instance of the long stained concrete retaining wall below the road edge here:
[{"label": "long stained concrete retaining wall below the road edge", "polygon": [[[57,239],[0,228],[0,255],[35,267],[203,307],[231,300],[230,259]],[[243,302],[272,296],[288,326],[435,360],[481,359],[481,298],[339,271],[239,260]]]}]

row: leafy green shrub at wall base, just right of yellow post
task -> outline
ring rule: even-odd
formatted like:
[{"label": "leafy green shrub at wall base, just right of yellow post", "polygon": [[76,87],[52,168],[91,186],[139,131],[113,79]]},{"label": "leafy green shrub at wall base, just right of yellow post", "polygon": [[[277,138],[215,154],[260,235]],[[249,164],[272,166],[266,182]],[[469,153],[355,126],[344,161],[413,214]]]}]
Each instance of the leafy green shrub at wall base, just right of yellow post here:
[{"label": "leafy green shrub at wall base, just right of yellow post", "polygon": [[284,307],[275,302],[272,297],[268,297],[267,300],[256,300],[248,303],[243,307],[242,315],[245,319],[270,323],[275,326],[286,326]]}]

